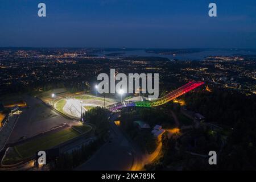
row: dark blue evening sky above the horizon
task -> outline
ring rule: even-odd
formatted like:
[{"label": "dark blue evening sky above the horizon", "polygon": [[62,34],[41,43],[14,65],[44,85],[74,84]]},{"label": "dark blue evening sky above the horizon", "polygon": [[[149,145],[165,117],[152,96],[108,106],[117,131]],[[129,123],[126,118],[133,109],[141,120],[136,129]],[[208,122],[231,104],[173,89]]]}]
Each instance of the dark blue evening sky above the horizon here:
[{"label": "dark blue evening sky above the horizon", "polygon": [[256,48],[256,1],[0,0],[0,46]]}]

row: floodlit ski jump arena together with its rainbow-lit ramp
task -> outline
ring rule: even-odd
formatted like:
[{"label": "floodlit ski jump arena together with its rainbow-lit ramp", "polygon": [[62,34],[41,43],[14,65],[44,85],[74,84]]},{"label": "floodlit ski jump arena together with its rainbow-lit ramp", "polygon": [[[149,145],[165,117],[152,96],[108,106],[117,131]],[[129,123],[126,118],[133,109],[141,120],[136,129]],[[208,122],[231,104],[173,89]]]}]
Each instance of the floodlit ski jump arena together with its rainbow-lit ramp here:
[{"label": "floodlit ski jump arena together with its rainbow-lit ramp", "polygon": [[[65,100],[60,100],[55,105],[55,108],[64,114],[69,116],[80,118],[81,113],[85,113],[92,107],[100,106],[106,107],[109,111],[115,111],[122,109],[123,107],[154,107],[166,104],[174,100],[175,98],[197,88],[200,85],[203,85],[204,82],[191,81],[187,84],[181,86],[180,88],[174,90],[173,92],[168,93],[166,96],[158,98],[156,100],[148,100],[148,98],[138,99],[137,97],[131,98],[126,101],[116,102],[110,100],[109,98],[101,98],[95,96],[77,96],[74,98],[66,98]],[[58,108],[58,103],[64,102],[61,107]]]}]

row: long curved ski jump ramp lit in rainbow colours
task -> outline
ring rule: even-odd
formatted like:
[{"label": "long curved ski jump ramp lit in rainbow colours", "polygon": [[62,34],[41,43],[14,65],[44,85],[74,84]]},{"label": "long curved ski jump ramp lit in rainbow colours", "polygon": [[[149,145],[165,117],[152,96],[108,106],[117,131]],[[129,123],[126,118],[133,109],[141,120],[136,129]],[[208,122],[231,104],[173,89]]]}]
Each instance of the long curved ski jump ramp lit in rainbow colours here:
[{"label": "long curved ski jump ramp lit in rainbow colours", "polygon": [[173,92],[168,93],[166,96],[158,98],[153,101],[123,101],[118,102],[117,104],[109,105],[106,107],[106,109],[109,109],[110,111],[122,109],[123,107],[154,107],[154,106],[160,106],[163,104],[166,104],[167,102],[170,102],[171,100],[174,100],[175,98],[189,92],[190,90],[193,90],[197,88],[200,85],[203,85],[204,82],[199,81],[191,81],[187,84],[181,86],[180,88],[174,90]]}]

